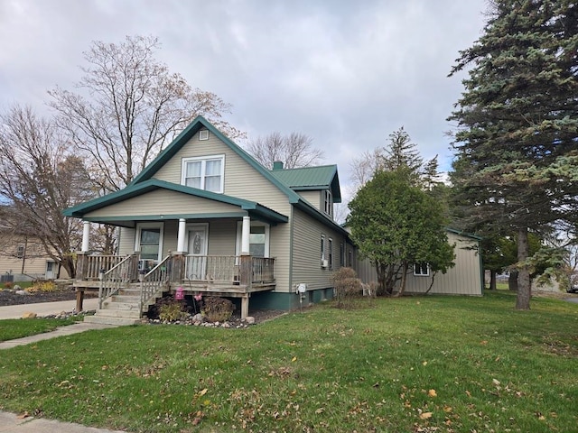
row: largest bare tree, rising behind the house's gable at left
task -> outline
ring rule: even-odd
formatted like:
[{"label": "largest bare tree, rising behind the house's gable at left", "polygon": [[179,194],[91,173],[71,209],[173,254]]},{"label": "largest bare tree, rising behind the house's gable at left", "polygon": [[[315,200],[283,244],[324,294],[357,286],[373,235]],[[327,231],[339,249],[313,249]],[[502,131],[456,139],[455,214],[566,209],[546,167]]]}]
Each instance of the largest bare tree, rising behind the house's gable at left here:
[{"label": "largest bare tree, rising behind the house's gable at left", "polygon": [[102,192],[122,189],[197,115],[231,138],[241,135],[222,119],[230,106],[217,95],[191,88],[180,74],[154,59],[159,41],[127,36],[122,43],[94,41],[79,92],[49,91],[59,125],[89,156]]}]

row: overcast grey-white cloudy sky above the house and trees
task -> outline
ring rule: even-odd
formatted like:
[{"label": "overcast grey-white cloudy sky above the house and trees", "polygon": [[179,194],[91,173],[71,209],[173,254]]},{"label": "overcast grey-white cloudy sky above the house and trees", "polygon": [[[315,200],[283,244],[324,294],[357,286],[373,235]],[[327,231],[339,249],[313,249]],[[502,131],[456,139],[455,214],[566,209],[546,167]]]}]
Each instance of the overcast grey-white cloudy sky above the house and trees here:
[{"label": "overcast grey-white cloudy sky above the house and trees", "polygon": [[312,137],[349,184],[350,161],[404,126],[425,159],[452,160],[446,118],[486,0],[0,0],[0,110],[46,112],[91,41],[153,35],[157,58],[232,105],[249,138]]}]

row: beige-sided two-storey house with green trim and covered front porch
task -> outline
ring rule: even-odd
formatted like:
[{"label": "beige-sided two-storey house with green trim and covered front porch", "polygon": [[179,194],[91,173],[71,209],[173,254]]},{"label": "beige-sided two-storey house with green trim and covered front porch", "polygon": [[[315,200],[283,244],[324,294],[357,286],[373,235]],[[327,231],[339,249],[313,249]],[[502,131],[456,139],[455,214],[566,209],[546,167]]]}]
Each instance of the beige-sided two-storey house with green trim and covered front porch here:
[{"label": "beige-sided two-storey house with green trim and covered front porch", "polygon": [[[133,302],[125,316],[140,318],[177,288],[241,299],[242,317],[249,299],[294,309],[331,298],[332,271],[355,260],[333,220],[337,167],[271,169],[197,117],[125,189],[66,209],[85,223],[75,285],[101,290],[97,316]],[[89,223],[119,227],[117,256],[89,254]]]}]

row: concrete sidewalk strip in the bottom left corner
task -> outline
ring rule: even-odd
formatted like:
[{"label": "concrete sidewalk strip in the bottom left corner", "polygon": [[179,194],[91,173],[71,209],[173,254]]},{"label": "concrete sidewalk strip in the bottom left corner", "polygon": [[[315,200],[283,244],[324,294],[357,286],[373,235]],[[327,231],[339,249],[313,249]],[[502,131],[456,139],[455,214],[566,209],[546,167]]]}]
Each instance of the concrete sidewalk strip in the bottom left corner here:
[{"label": "concrete sidewalk strip in the bottom left corner", "polygon": [[0,433],[121,433],[121,431],[85,427],[54,419],[21,418],[14,413],[0,411]]}]

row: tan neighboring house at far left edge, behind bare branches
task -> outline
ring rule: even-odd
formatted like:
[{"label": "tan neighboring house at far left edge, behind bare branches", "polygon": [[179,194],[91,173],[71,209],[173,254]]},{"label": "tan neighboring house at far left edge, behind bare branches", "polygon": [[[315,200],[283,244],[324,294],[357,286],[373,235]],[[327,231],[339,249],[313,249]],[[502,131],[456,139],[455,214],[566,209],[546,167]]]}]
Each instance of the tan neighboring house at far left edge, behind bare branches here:
[{"label": "tan neighboring house at far left edge, behind bare branches", "polygon": [[[58,263],[44,251],[37,238],[12,235],[5,231],[0,237],[0,282],[54,280],[59,276]],[[60,276],[68,278],[64,269],[61,269]]]}]

